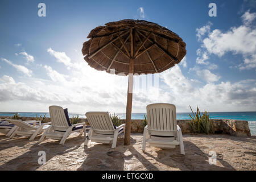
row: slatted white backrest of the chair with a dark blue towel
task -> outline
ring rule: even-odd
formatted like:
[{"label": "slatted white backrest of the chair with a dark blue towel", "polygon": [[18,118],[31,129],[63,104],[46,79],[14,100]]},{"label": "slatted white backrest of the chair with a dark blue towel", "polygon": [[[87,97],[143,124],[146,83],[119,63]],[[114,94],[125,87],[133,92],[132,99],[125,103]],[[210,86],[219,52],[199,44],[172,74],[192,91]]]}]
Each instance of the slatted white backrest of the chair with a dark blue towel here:
[{"label": "slatted white backrest of the chair with a dark blue towel", "polygon": [[49,114],[51,117],[53,130],[66,131],[69,127],[63,107],[49,106]]}]

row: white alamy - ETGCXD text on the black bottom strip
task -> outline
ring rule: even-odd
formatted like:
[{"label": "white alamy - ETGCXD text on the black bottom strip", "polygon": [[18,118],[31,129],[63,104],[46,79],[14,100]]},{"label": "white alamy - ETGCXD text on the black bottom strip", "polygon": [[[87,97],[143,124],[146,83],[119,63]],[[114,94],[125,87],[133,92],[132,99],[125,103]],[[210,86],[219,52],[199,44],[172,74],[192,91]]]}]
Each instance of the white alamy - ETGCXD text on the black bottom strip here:
[{"label": "white alamy - ETGCXD text on the black bottom strip", "polygon": [[113,175],[113,174],[104,174],[102,179],[115,179],[120,180],[126,177],[126,179],[153,179],[154,175],[152,173],[127,173],[126,175]]}]

